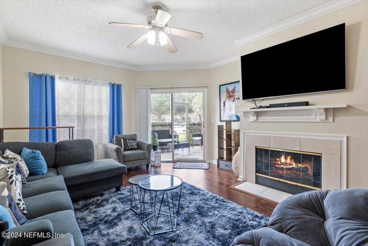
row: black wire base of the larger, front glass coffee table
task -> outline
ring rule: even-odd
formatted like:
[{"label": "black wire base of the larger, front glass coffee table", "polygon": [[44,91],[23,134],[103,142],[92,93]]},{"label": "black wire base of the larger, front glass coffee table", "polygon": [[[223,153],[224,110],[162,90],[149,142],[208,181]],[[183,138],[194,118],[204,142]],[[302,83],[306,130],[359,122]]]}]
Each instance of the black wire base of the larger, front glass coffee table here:
[{"label": "black wire base of the larger, front glass coffee table", "polygon": [[[169,191],[171,191],[169,193]],[[179,193],[179,198],[178,198],[178,205],[177,208],[174,209],[176,206],[174,205],[174,198],[173,198],[173,190],[169,190],[169,191],[146,191],[144,189],[141,189],[141,197],[143,198],[143,201],[141,203],[141,224],[143,226],[143,228],[148,232],[149,235],[153,236],[153,235],[157,235],[157,234],[161,234],[161,233],[165,233],[165,232],[171,232],[171,231],[176,231],[177,229],[177,218],[179,215],[179,206],[180,206],[180,198],[181,198],[181,186],[180,186],[180,193]],[[156,193],[154,198],[153,198],[153,194],[151,193]],[[162,197],[161,197],[161,201],[160,201],[160,207],[159,210],[156,211],[155,208],[155,204],[156,204],[156,196],[158,192],[162,192]],[[149,193],[149,202],[145,201],[145,193]],[[166,196],[165,196],[166,194]],[[169,199],[169,197],[171,196],[171,199]],[[170,200],[171,200],[171,204],[170,204]],[[161,212],[162,208],[163,208],[163,203],[166,203],[167,201],[167,207],[169,209],[169,213],[164,213]],[[153,209],[151,208],[151,210],[146,210],[146,204],[153,204]],[[148,208],[149,205],[148,205]],[[176,210],[176,212],[175,212]],[[153,214],[148,215],[148,212],[153,211]],[[155,221],[155,217],[157,215],[157,219]],[[168,228],[165,228],[162,231],[157,231],[157,224],[159,221],[159,217],[162,216],[167,216],[170,217],[170,224],[168,225]],[[152,219],[153,218],[153,219]],[[153,225],[149,224],[149,222],[152,221]],[[171,229],[170,229],[171,228]]]}]

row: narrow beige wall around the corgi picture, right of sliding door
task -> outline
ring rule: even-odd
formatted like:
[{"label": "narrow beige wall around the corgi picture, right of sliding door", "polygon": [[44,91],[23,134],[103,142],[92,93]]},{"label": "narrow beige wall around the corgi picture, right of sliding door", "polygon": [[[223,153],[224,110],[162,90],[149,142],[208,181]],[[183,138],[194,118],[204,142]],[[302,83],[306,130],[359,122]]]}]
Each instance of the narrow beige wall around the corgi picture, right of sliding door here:
[{"label": "narrow beige wall around the corgi picture, right of sliding door", "polygon": [[[240,60],[233,61],[231,63],[224,64],[222,66],[214,67],[211,69],[210,80],[211,80],[211,97],[210,97],[210,105],[211,105],[211,114],[208,119],[210,122],[211,119],[215,119],[215,123],[211,123],[210,133],[208,134],[210,139],[209,142],[212,142],[212,149],[209,153],[209,159],[213,161],[217,160],[218,157],[218,140],[217,140],[217,125],[225,125],[225,122],[220,122],[220,95],[219,95],[219,85],[226,84],[234,81],[240,80],[241,77],[241,68],[240,68]],[[240,88],[241,89],[241,88]],[[240,90],[241,91],[241,90]],[[240,96],[240,95],[239,95]],[[240,122],[233,122],[231,124],[232,129],[239,129]],[[215,162],[216,163],[216,162]]]}]

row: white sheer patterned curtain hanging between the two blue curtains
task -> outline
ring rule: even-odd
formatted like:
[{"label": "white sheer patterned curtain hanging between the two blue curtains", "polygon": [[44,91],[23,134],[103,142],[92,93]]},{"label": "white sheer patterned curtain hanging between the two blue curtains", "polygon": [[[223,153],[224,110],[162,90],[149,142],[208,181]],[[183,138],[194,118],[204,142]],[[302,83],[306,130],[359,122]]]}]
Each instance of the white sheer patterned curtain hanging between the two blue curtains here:
[{"label": "white sheer patterned curtain hanging between the two blue curtains", "polygon": [[[89,138],[95,159],[107,158],[109,143],[109,85],[55,75],[56,125],[75,126],[74,139]],[[57,141],[69,139],[68,129],[57,130]]]}]

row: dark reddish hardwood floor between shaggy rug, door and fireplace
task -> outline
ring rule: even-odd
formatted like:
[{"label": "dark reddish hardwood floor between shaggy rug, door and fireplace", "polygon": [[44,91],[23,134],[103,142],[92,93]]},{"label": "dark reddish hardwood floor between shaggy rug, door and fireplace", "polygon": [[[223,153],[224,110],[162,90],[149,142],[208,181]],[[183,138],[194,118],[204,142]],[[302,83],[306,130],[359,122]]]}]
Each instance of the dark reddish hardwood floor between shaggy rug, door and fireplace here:
[{"label": "dark reddish hardwood floor between shaggy rug, door and fireplace", "polygon": [[127,174],[124,175],[124,186],[129,185],[128,179],[139,174],[169,174],[175,175],[183,179],[183,181],[208,190],[223,198],[234,201],[251,210],[260,212],[270,216],[276,204],[263,200],[241,191],[231,189],[230,186],[239,183],[237,176],[228,170],[219,169],[216,165],[210,164],[209,169],[174,169],[172,163],[162,163],[160,167],[139,166],[128,168]]}]

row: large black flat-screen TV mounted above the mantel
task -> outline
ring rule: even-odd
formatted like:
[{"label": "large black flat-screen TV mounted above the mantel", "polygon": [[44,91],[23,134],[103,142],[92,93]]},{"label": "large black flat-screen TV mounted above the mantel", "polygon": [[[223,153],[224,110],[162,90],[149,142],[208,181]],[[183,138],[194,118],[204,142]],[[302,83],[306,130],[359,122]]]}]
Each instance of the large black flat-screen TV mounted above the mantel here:
[{"label": "large black flat-screen TV mounted above the mantel", "polygon": [[241,56],[243,100],[346,89],[345,23]]}]

